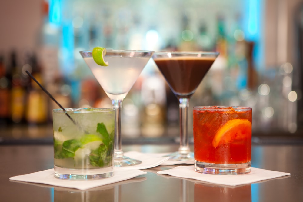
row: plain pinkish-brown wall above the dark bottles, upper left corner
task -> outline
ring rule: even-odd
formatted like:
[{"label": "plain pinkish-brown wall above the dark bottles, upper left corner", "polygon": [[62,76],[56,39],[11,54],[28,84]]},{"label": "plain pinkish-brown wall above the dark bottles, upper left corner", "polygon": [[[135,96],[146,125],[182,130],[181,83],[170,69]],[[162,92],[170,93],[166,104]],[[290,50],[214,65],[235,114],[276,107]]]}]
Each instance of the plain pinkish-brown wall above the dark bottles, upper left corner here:
[{"label": "plain pinkish-brown wall above the dark bottles, upper left corner", "polygon": [[37,46],[43,0],[0,1],[0,51],[8,54]]}]

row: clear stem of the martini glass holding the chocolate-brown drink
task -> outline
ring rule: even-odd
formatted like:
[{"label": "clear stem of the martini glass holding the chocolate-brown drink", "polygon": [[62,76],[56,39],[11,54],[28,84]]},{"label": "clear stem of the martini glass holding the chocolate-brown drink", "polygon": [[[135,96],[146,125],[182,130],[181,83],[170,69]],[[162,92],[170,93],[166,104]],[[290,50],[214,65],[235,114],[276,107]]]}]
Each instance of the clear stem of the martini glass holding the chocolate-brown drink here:
[{"label": "clear stem of the martini glass holding the chocolate-brown drink", "polygon": [[187,133],[187,119],[188,119],[188,106],[189,98],[179,98],[179,110],[180,110],[180,154],[189,154],[190,149],[188,145],[188,133]]}]

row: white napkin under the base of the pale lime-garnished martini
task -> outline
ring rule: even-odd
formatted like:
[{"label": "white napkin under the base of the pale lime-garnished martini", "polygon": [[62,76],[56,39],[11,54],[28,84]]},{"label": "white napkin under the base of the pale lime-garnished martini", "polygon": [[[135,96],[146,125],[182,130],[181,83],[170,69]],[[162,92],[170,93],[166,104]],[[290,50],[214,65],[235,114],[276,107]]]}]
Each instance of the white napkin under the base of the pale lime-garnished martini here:
[{"label": "white napkin under the base of the pale lime-garnished martini", "polygon": [[147,153],[141,153],[137,151],[128,151],[124,153],[124,156],[133,158],[136,160],[142,161],[141,164],[134,165],[134,166],[122,166],[122,167],[115,167],[115,170],[130,170],[130,169],[147,169],[156,167],[161,165],[163,162],[167,161],[169,157],[162,157],[162,156],[153,156]]}]

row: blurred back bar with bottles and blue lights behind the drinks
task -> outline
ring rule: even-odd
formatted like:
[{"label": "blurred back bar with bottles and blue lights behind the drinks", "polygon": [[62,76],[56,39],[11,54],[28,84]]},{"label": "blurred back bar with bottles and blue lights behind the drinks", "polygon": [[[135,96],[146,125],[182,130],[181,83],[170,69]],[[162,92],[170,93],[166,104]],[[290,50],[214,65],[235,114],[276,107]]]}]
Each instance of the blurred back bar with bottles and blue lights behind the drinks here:
[{"label": "blurred back bar with bottles and blue lights behind the drinks", "polygon": [[[79,54],[95,46],[219,51],[189,108],[252,107],[253,134],[264,137],[255,142],[303,136],[302,16],[302,0],[2,1],[0,137],[42,143],[52,137],[58,106],[25,70],[66,108],[111,108]],[[178,101],[152,60],[122,107],[125,143],[178,138]]]}]

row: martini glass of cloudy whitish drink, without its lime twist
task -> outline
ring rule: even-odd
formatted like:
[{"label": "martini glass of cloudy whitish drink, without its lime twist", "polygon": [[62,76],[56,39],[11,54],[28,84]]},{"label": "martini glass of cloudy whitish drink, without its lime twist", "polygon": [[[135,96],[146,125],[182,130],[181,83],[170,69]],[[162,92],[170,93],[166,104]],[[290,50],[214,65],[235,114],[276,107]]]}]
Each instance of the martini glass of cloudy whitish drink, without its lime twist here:
[{"label": "martini glass of cloudy whitish drink, without its lime twist", "polygon": [[153,51],[107,50],[104,60],[108,61],[109,65],[100,66],[95,63],[92,51],[80,51],[93,75],[112,100],[112,106],[115,109],[115,166],[132,166],[141,163],[139,160],[123,155],[120,111],[123,99],[138,79],[153,53]]}]

